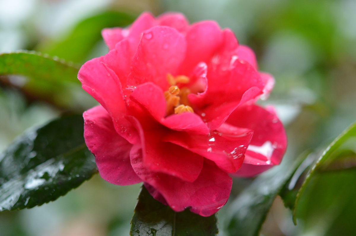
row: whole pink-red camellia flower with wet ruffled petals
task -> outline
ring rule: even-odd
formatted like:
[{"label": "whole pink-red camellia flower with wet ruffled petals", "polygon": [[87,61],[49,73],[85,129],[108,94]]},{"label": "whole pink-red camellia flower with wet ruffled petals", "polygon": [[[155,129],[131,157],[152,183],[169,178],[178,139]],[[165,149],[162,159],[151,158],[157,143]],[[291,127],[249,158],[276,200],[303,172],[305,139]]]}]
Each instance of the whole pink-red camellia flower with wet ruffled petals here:
[{"label": "whole pink-red camellia flower with wet ruffled petals", "polygon": [[104,29],[109,53],[86,62],[82,87],[100,105],[84,112],[84,137],[99,173],[143,182],[174,211],[201,216],[227,201],[230,175],[281,162],[286,134],[273,109],[255,104],[273,87],[253,51],[214,21],[142,14]]}]

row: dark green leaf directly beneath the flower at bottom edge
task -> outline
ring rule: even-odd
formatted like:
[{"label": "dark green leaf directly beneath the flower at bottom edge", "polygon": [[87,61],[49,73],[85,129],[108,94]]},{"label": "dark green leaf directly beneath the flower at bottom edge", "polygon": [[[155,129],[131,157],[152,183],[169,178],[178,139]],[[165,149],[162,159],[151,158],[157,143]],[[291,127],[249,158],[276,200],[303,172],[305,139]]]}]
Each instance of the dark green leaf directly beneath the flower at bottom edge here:
[{"label": "dark green leaf directly beneath the flower at bottom edge", "polygon": [[131,236],[211,236],[218,234],[215,215],[203,217],[186,209],[175,212],[153,199],[142,186],[131,220]]}]

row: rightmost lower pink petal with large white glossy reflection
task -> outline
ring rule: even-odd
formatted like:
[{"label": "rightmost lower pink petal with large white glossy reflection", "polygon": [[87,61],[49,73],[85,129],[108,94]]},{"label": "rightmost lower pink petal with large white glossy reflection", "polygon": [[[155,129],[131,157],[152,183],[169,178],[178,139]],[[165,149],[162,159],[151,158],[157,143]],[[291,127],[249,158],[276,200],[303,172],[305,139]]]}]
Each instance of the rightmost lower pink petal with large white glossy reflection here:
[{"label": "rightmost lower pink petal with large white glossy reflection", "polygon": [[[241,173],[237,171],[236,175],[253,176],[281,162],[287,147],[287,137],[276,114],[257,105],[242,106],[226,122],[253,130]],[[253,168],[251,165],[254,165]]]}]

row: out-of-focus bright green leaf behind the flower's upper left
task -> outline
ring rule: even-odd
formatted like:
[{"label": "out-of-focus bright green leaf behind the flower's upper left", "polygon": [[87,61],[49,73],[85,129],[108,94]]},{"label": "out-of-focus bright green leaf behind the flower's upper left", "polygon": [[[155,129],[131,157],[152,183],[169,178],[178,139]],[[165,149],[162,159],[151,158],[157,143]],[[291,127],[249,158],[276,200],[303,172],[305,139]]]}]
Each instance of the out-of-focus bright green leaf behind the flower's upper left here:
[{"label": "out-of-focus bright green leaf behind the flower's upper left", "polygon": [[61,41],[47,42],[37,50],[68,61],[82,63],[88,60],[93,47],[101,40],[101,30],[109,27],[125,27],[135,18],[136,16],[124,12],[101,12],[79,22]]}]

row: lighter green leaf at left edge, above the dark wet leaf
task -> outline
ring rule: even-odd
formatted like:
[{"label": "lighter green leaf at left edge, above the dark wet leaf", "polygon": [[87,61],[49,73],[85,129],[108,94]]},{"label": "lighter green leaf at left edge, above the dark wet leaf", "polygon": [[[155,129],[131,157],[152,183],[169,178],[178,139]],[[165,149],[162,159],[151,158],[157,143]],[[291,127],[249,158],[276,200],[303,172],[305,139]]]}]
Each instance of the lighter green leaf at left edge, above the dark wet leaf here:
[{"label": "lighter green leaf at left edge, above the dark wet leaf", "polygon": [[0,81],[59,107],[83,110],[96,103],[80,87],[78,70],[78,66],[38,52],[0,54]]}]

